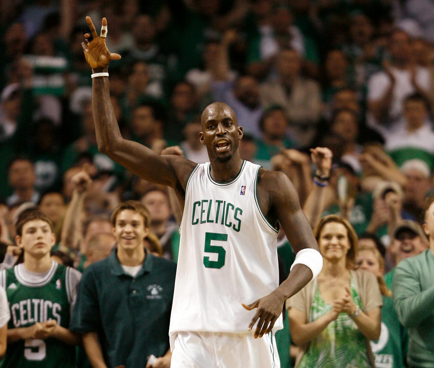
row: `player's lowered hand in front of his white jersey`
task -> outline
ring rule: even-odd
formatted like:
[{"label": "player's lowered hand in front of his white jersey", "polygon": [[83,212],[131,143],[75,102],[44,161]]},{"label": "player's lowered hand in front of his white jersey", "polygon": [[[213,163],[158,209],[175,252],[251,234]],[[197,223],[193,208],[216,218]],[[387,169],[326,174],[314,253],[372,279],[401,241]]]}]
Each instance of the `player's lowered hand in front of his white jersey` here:
[{"label": "player's lowered hand in front of his white jersey", "polygon": [[250,321],[247,330],[251,331],[256,321],[259,319],[256,325],[255,338],[262,337],[264,334],[269,333],[282,313],[284,302],[285,298],[283,296],[279,295],[277,292],[272,292],[252,304],[246,305],[242,303],[242,306],[247,310],[258,309]]}]

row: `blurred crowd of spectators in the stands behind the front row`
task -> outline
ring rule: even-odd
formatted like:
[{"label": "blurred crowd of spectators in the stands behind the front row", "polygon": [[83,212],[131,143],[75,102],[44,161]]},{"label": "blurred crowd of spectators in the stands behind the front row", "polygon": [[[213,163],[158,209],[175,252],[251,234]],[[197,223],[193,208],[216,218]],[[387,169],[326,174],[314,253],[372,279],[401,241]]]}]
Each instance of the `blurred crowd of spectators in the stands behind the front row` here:
[{"label": "blurred crowd of spectators in the stands behind the front row", "polygon": [[[108,49],[122,56],[109,81],[124,138],[206,162],[200,114],[226,102],[244,129],[242,158],[286,173],[312,227],[322,215],[348,220],[359,243],[379,251],[381,273],[427,250],[420,226],[434,192],[431,0],[22,0],[0,10],[3,254],[19,255],[8,248],[14,225],[38,206],[54,224],[56,260],[82,271],[110,253],[110,213],[133,199],[150,214],[145,247],[177,260],[173,194],[98,151],[81,46],[87,15],[97,30],[107,18]],[[328,150],[311,157],[315,147]],[[292,250],[279,239],[289,271]]]}]

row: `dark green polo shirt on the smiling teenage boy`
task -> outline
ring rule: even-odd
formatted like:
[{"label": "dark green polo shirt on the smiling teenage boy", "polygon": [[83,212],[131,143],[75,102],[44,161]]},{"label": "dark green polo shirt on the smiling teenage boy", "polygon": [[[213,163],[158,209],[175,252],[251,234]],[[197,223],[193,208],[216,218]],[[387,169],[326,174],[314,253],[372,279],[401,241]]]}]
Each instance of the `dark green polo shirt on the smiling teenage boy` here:
[{"label": "dark green polo shirt on the smiling teenage boy", "polygon": [[98,332],[108,367],[145,367],[148,355],[169,349],[176,264],[146,253],[133,278],[112,254],[85,269],[70,329]]}]

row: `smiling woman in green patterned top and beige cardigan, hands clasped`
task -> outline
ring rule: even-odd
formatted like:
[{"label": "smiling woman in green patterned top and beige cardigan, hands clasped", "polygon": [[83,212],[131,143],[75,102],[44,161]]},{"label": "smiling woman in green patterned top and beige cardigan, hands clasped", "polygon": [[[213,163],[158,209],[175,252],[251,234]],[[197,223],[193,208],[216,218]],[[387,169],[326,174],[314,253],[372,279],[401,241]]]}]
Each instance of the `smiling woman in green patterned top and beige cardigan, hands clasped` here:
[{"label": "smiling woman in green patterned top and beige cardigan, hands clasped", "polygon": [[382,300],[375,276],[355,270],[355,231],[329,215],[314,234],[322,271],[286,302],[291,336],[301,347],[296,367],[374,367],[369,340],[380,336]]}]

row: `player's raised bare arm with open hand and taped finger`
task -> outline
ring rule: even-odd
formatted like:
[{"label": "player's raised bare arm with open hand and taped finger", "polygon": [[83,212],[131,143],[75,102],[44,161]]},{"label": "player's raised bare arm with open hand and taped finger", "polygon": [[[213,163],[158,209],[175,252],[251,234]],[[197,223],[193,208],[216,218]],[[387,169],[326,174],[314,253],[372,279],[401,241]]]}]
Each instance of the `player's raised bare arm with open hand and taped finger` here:
[{"label": "player's raised bare arm with open hand and taped finger", "polygon": [[[102,33],[98,36],[89,16],[86,16],[90,32],[82,43],[86,61],[92,73],[108,72],[109,62],[118,60],[120,55],[110,53],[105,45],[107,20],[102,19]],[[90,41],[89,41],[90,39]],[[137,142],[122,138],[115,118],[109,93],[109,78],[96,76],[92,79],[92,112],[95,133],[100,152],[118,162],[139,177],[170,187],[183,187],[195,164],[178,156],[160,156]]]}]

